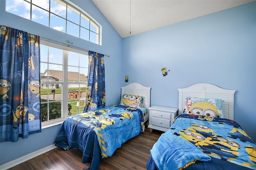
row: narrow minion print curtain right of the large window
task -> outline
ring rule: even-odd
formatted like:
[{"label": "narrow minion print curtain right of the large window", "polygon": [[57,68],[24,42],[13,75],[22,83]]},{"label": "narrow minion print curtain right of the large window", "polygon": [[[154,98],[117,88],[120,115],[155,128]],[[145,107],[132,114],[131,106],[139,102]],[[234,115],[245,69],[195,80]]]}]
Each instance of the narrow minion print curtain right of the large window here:
[{"label": "narrow minion print curtain right of the large window", "polygon": [[104,55],[89,51],[88,80],[83,112],[105,107]]}]

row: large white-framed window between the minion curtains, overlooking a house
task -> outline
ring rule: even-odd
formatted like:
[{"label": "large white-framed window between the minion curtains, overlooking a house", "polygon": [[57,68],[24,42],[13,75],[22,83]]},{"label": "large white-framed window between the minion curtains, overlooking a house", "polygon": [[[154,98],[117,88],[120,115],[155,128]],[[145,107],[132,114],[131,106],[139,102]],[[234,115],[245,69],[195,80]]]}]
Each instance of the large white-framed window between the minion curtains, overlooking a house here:
[{"label": "large white-framed window between the minion curtains, overlooking a house", "polygon": [[88,52],[40,40],[40,59],[42,125],[82,113]]}]

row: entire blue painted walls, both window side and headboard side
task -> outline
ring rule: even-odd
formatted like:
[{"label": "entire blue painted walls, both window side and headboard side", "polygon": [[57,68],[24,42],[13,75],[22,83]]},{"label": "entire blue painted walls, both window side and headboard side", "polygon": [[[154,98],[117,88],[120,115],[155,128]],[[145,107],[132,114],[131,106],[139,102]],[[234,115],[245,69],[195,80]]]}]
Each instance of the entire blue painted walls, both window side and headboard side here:
[{"label": "entire blue painted walls, both window side and headboard side", "polygon": [[[122,39],[91,1],[71,1],[102,25],[102,46],[9,14],[3,0],[0,24],[110,55],[105,57],[107,106],[120,101],[116,89],[126,85],[125,75],[129,83],[152,87],[151,105],[178,108],[177,89],[195,83],[234,89],[234,119],[256,140],[256,113],[250,111],[256,103],[256,2]],[[170,69],[166,77],[162,67]],[[0,143],[0,165],[51,145],[59,127]]]}]

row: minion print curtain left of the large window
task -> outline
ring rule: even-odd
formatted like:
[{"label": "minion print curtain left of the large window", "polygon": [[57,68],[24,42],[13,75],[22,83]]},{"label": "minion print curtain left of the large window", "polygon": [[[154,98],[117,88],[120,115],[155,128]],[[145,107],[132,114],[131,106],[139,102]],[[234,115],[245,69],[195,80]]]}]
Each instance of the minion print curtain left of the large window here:
[{"label": "minion print curtain left of the large window", "polygon": [[41,132],[39,36],[1,26],[0,142]]}]

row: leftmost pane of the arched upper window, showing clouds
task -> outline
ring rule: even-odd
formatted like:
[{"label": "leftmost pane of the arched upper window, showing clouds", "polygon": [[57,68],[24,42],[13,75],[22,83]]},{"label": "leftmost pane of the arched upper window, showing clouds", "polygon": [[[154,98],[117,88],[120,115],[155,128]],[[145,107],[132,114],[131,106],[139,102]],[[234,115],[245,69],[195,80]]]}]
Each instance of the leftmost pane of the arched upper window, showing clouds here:
[{"label": "leftmost pane of the arched upper window, showing clouds", "polygon": [[6,11],[30,20],[30,3],[26,1],[6,0]]}]

